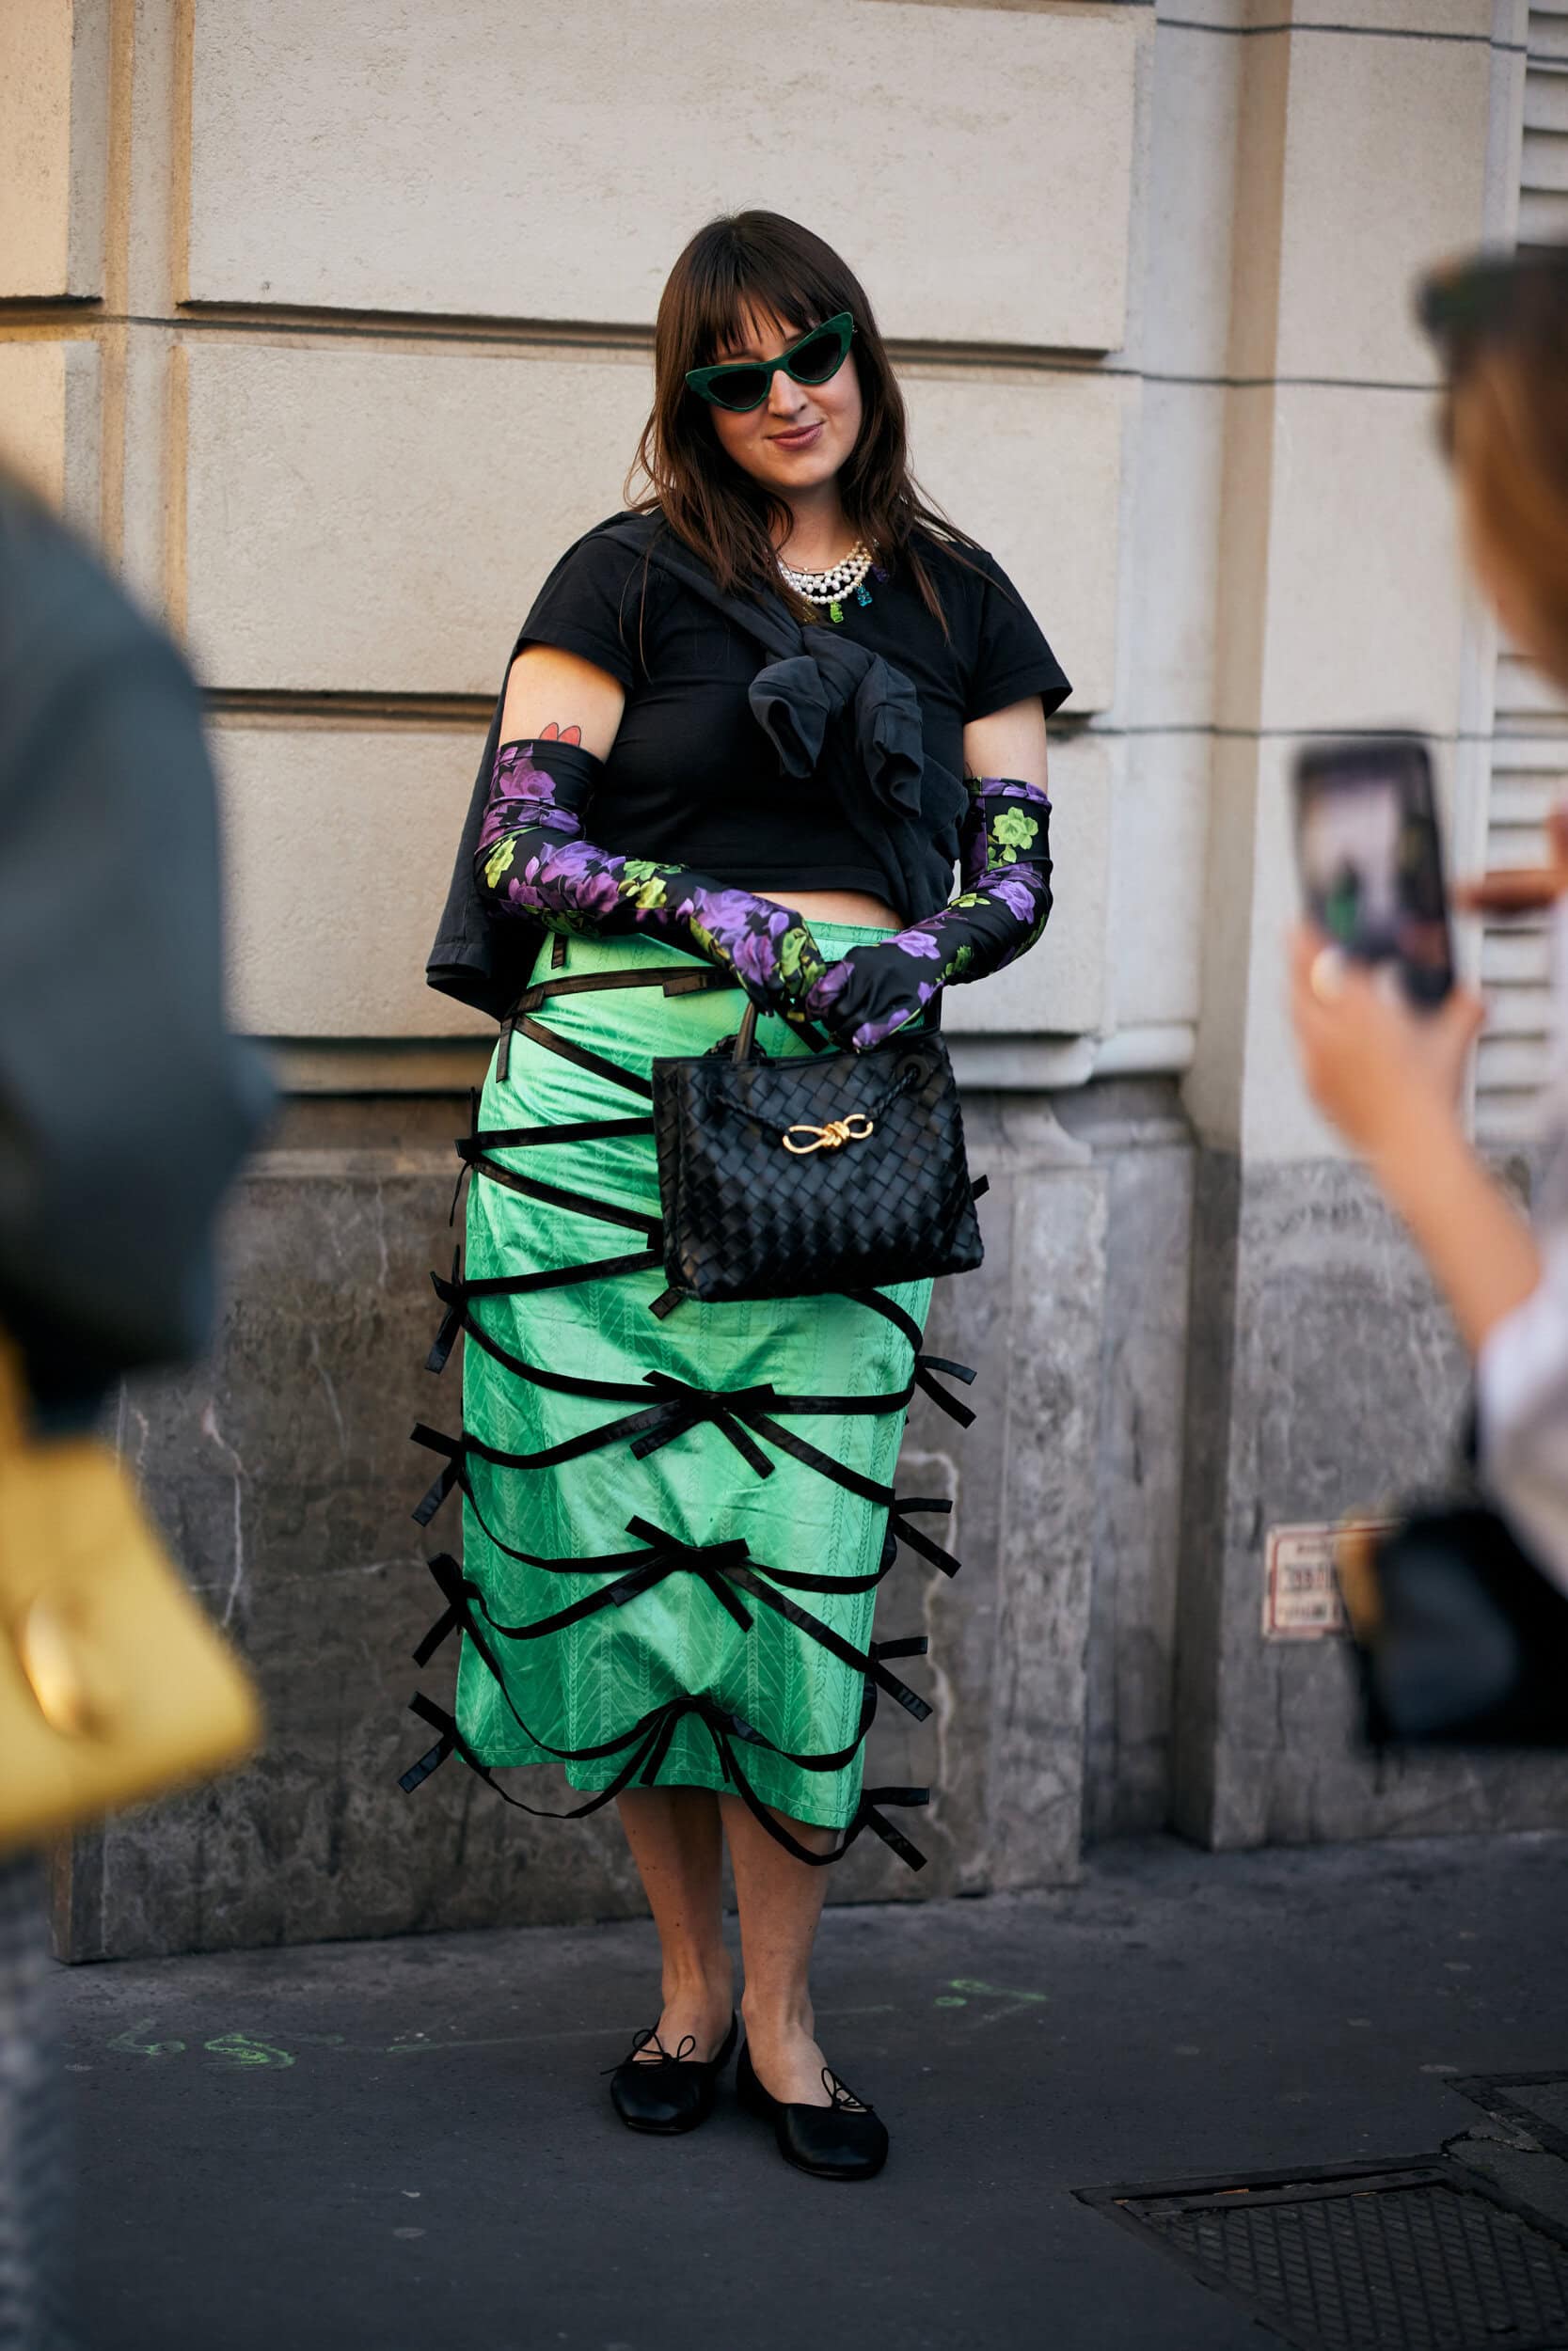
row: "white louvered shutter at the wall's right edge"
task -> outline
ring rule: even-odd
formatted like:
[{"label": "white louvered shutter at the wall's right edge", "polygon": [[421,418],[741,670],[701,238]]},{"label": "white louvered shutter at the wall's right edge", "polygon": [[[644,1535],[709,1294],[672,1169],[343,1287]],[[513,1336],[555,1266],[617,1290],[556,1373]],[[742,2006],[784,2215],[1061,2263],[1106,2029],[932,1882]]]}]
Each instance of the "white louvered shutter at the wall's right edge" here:
[{"label": "white louvered shutter at the wall's right edge", "polygon": [[[1519,162],[1519,245],[1568,245],[1568,0],[1530,9]],[[1568,708],[1502,649],[1493,715],[1488,865],[1533,865],[1554,799],[1568,795]],[[1488,924],[1481,980],[1490,1018],[1476,1060],[1476,1133],[1509,1143],[1535,1133],[1552,1039],[1544,924]]]}]

